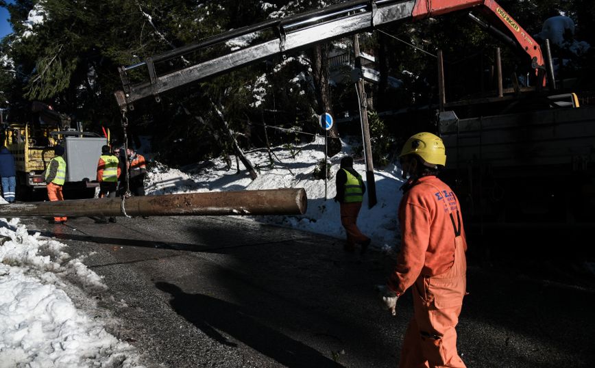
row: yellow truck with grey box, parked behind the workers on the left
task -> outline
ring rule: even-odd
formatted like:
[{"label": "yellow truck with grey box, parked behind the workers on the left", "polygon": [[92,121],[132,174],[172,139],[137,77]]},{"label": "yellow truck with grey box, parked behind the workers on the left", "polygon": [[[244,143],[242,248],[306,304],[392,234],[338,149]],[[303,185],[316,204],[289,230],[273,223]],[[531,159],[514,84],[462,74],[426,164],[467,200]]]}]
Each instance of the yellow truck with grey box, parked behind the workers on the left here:
[{"label": "yellow truck with grey box, parked behind the workers on the left", "polygon": [[71,118],[40,102],[32,103],[31,122],[3,122],[4,145],[14,157],[17,196],[29,198],[45,192],[45,170],[53,158],[53,147],[64,146],[66,181],[64,192],[74,196],[92,196],[99,183],[95,181],[97,160],[106,137],[71,128]]}]

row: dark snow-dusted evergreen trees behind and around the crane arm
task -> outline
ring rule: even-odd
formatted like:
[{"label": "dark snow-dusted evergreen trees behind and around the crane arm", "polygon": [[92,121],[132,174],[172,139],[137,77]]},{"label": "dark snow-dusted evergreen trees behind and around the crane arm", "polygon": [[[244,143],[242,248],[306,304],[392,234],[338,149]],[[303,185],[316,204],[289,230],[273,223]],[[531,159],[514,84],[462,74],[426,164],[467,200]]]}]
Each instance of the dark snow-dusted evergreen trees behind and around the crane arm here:
[{"label": "dark snow-dusted evergreen trees behind and around the crane arm", "polygon": [[[253,25],[270,18],[291,16],[340,1],[276,0],[0,0],[10,12],[14,34],[0,43],[0,107],[10,107],[12,120],[30,118],[30,103],[40,100],[83,122],[86,130],[110,128],[121,133],[121,112],[113,92],[121,90],[119,66],[140,63],[165,51],[198,43],[230,29]],[[595,76],[595,5],[590,0],[501,0],[529,34],[541,30],[546,18],[561,12],[576,23],[576,39],[593,47],[579,60],[574,75],[584,88],[592,89]],[[475,10],[474,10],[475,12]],[[29,19],[36,15],[38,22]],[[489,86],[485,73],[493,63],[494,48],[502,49],[505,77],[531,73],[526,55],[511,50],[467,18],[466,12],[383,27],[360,38],[361,48],[376,55],[381,73],[402,81],[402,88],[367,86],[374,96],[374,109],[402,109],[430,105],[437,99],[437,50],[446,60],[447,95],[464,98],[480,92],[480,82]],[[271,34],[261,34],[260,38]],[[274,35],[273,35],[274,36]],[[400,40],[396,40],[399,38]],[[341,42],[341,41],[339,41]],[[404,42],[407,42],[405,44]],[[346,42],[349,43],[349,42]],[[417,49],[411,47],[413,44]],[[198,60],[224,55],[232,45],[217,44],[157,63],[158,73],[188,66]],[[427,51],[422,52],[420,50]],[[555,52],[558,52],[555,50]],[[428,55],[431,54],[431,55]],[[232,154],[226,129],[243,148],[264,146],[263,122],[267,125],[319,133],[317,96],[312,50],[260,62],[208,81],[194,83],[137,103],[128,114],[130,135],[154,137],[160,159],[178,166],[199,159]],[[323,70],[324,71],[324,70]],[[143,66],[130,70],[132,81],[147,80]],[[335,115],[354,105],[352,85],[335,86],[330,108]],[[258,94],[260,97],[255,98]],[[228,128],[214,106],[223,111]],[[428,114],[428,116],[431,116]],[[370,115],[374,160],[389,158],[391,122]],[[409,132],[408,132],[409,133]],[[308,135],[300,135],[303,140]],[[269,130],[271,144],[294,142],[295,136]]]}]

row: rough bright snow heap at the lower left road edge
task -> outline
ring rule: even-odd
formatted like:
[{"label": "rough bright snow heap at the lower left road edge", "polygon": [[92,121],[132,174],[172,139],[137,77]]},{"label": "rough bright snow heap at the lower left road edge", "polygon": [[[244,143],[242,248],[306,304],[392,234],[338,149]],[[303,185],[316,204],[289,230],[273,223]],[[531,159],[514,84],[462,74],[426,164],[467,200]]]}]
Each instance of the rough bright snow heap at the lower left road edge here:
[{"label": "rough bright snow heap at the lower left road edge", "polygon": [[0,368],[138,366],[134,347],[73,302],[93,308],[88,292],[106,286],[64,247],[0,219]]}]

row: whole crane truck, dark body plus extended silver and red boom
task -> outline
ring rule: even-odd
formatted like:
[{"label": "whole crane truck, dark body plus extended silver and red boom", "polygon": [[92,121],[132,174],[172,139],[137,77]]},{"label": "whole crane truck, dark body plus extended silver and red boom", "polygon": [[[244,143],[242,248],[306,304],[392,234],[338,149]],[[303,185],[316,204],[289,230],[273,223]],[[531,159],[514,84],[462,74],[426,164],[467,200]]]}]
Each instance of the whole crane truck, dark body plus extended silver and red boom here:
[{"label": "whole crane truck, dark body plus extended silver and red boom", "polygon": [[[353,0],[289,18],[235,29],[208,38],[199,44],[149,57],[138,64],[121,66],[119,73],[123,90],[114,92],[114,96],[119,108],[125,113],[127,110],[134,109],[133,104],[142,98],[153,96],[159,102],[159,94],[163,92],[228,73],[235,68],[276,55],[300,51],[313,44],[345,38],[397,21],[415,21],[459,10],[483,10],[487,13],[489,21],[505,31],[502,33],[496,29],[496,34],[504,37],[508,44],[515,44],[529,55],[531,68],[535,70],[536,75],[533,83],[533,86],[536,86],[534,90],[543,92],[547,75],[547,87],[550,88],[550,93],[555,91],[555,87],[552,86],[555,79],[551,68],[551,57],[547,52],[547,57],[544,57],[539,44],[496,1]],[[475,16],[471,18],[478,21]],[[480,24],[486,29],[494,30],[493,26],[487,26],[483,22]],[[276,36],[226,55],[184,66],[171,73],[162,75],[156,73],[156,70],[160,70],[155,67],[157,63],[171,62],[188,53],[200,51],[215,44],[248,34],[262,35],[265,31]],[[136,78],[140,73],[139,68],[143,67],[147,72],[145,79],[132,83],[129,73],[134,70]],[[564,219],[561,220],[565,224],[574,218],[581,223],[590,222],[592,225],[594,215],[587,207],[590,206],[591,209],[595,207],[591,199],[595,198],[592,195],[595,193],[593,184],[595,111],[592,108],[577,108],[579,103],[576,94],[557,95],[549,99],[546,96],[545,99],[549,100],[551,107],[561,109],[466,120],[459,119],[456,114],[449,114],[444,109],[445,107],[447,110],[449,107],[454,109],[455,103],[441,105],[437,133],[444,137],[448,147],[447,165],[450,172],[447,176],[450,176],[453,186],[458,187],[463,193],[460,197],[465,203],[470,204],[468,206],[470,211],[467,213],[478,222],[489,218],[489,221],[496,223],[527,219],[537,223],[548,219],[552,211],[559,210],[560,213],[565,214]],[[483,100],[485,102],[485,98]],[[498,100],[504,101],[506,98],[500,95]],[[563,176],[556,177],[555,170],[561,170]],[[544,176],[544,173],[552,173],[552,175]],[[552,191],[555,185],[540,182],[541,176],[548,179],[554,178],[552,183],[564,184],[559,185],[559,188],[569,192],[561,194],[559,189]],[[569,178],[572,179],[568,180]],[[511,179],[512,181],[507,183]],[[535,186],[531,187],[529,181],[533,181]],[[518,185],[519,182],[525,183],[521,185],[522,190],[518,191],[519,195],[508,195],[515,192],[513,186]],[[573,184],[567,185],[568,182]],[[520,200],[520,196],[531,194],[531,189],[535,191],[535,188],[537,188],[535,195],[528,197],[535,200],[531,203]],[[550,199],[537,203],[540,196],[549,196]],[[555,199],[551,200],[551,198]],[[570,201],[572,198],[574,202]],[[580,198],[587,198],[587,200],[581,202]],[[498,200],[502,200],[500,209],[491,211],[488,203],[494,204]],[[527,202],[526,205],[525,202]],[[568,203],[574,203],[574,205],[568,205]],[[544,210],[544,207],[548,206],[550,208]],[[572,206],[576,208],[569,208]],[[537,213],[539,215],[536,215]],[[559,217],[559,214],[557,216]],[[551,217],[549,219],[551,220]]]}]

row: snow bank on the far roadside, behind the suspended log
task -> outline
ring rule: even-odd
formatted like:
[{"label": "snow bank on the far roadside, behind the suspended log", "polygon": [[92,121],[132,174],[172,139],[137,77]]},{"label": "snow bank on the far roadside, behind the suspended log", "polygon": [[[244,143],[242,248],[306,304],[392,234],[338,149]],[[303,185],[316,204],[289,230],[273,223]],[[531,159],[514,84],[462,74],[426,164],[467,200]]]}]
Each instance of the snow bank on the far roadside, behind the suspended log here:
[{"label": "snow bank on the far roadside, behind the suspended log", "polygon": [[[247,152],[245,156],[258,171],[254,181],[241,161],[240,171],[236,170],[234,157],[232,168],[223,159],[215,159],[209,165],[203,163],[201,167],[186,167],[184,171],[157,163],[149,170],[145,187],[147,195],[303,187],[308,197],[308,210],[304,215],[252,216],[250,219],[344,239],[339,203],[333,198],[339,161],[352,153],[351,147],[344,143],[341,152],[329,159],[331,177],[326,182],[313,176],[317,163],[324,160],[324,147],[324,137],[318,136],[313,142],[295,146],[292,150],[273,148],[272,165],[267,150]],[[356,159],[354,169],[365,181],[363,160]],[[397,207],[402,196],[399,188],[403,183],[400,176],[401,170],[396,166],[375,170],[378,203],[368,209],[367,196],[364,196],[358,226],[372,238],[372,247],[391,250],[397,244]]]}]

